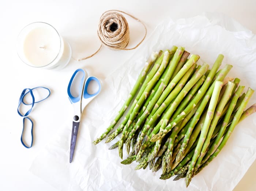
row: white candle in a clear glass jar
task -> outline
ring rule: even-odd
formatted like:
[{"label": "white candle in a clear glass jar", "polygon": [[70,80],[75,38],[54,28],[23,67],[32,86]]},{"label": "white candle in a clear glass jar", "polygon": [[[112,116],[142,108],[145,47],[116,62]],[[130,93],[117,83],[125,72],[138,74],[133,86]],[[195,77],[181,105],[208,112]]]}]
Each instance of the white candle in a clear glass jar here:
[{"label": "white candle in a clear glass jar", "polygon": [[18,55],[26,64],[46,69],[64,68],[71,58],[71,48],[54,27],[36,22],[20,32]]}]

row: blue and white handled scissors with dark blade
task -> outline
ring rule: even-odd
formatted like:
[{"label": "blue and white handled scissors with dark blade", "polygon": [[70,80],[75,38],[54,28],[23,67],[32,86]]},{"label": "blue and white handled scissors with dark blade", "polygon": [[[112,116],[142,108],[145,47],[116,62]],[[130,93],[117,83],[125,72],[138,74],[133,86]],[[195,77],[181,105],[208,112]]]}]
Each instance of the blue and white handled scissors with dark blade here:
[{"label": "blue and white handled scissors with dark blade", "polygon": [[[96,81],[96,83],[98,84],[98,91],[93,94],[87,92],[88,86],[91,81]],[[72,162],[72,158],[74,155],[78,127],[81,121],[83,110],[86,105],[99,94],[100,91],[101,82],[97,77],[88,77],[87,72],[83,69],[75,70],[68,84],[68,98],[74,107],[69,163]]]}]

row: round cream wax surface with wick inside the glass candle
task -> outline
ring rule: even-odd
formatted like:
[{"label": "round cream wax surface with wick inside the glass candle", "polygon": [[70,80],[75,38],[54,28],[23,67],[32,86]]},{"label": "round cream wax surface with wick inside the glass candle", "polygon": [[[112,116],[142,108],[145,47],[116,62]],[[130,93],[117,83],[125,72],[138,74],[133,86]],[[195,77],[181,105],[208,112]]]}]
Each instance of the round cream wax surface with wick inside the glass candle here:
[{"label": "round cream wax surface with wick inside the glass candle", "polygon": [[59,34],[54,28],[36,27],[24,39],[24,56],[31,65],[45,66],[57,57],[60,43]]}]

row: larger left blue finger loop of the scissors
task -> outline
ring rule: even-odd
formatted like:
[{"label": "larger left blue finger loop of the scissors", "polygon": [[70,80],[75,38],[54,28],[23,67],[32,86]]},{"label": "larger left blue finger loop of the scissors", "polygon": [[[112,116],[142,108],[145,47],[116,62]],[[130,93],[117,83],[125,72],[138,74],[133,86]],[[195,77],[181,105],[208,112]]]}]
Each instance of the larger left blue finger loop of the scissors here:
[{"label": "larger left blue finger loop of the scissors", "polygon": [[[82,80],[80,81],[80,84],[79,84],[79,96],[77,97],[74,97],[71,93],[71,85],[72,85],[72,82],[75,78],[75,76],[77,75],[78,72],[82,72],[83,73],[83,77],[82,77]],[[69,100],[72,102],[72,103],[76,103],[76,102],[79,102],[80,99],[81,99],[81,96],[82,96],[82,91],[83,91],[83,84],[84,84],[84,80],[85,80],[85,77],[86,77],[86,72],[83,70],[83,69],[77,69],[75,70],[74,74],[72,75],[69,83],[68,83],[68,97],[69,97]]]}]

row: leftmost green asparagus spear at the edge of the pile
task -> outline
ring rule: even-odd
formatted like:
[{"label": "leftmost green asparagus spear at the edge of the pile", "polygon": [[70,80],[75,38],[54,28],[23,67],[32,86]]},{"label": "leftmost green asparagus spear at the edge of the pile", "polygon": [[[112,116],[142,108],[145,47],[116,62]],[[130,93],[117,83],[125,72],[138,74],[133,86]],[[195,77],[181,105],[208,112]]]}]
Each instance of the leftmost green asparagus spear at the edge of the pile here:
[{"label": "leftmost green asparagus spear at the edge of the pile", "polygon": [[[159,53],[152,53],[150,58],[148,58],[148,60],[146,61],[146,64],[144,66],[144,68],[142,69],[142,72],[140,73],[134,87],[132,88],[132,91],[130,92],[128,99],[125,101],[123,107],[121,108],[121,110],[118,112],[118,115],[116,116],[116,118],[111,122],[110,126],[106,129],[106,131],[97,139],[93,142],[94,145],[96,145],[97,143],[99,143],[101,140],[103,140],[106,135],[109,134],[109,132],[114,128],[114,126],[116,125],[116,123],[119,121],[119,119],[123,116],[125,110],[128,108],[129,104],[131,103],[133,97],[135,96],[136,92],[138,91],[140,85],[142,84],[142,82],[144,81],[146,74],[148,73],[148,70],[151,68],[151,66],[154,64],[155,60],[157,59],[157,56],[160,55],[161,56],[162,51],[159,51]],[[161,57],[160,57],[161,58]],[[156,63],[157,64],[157,63]]]}]

